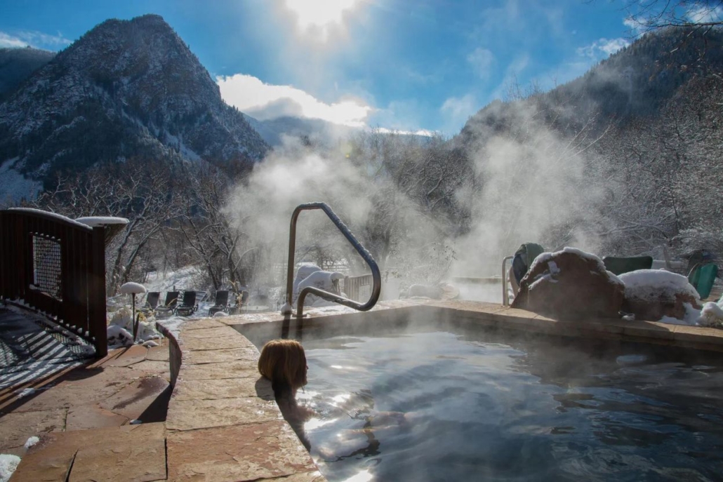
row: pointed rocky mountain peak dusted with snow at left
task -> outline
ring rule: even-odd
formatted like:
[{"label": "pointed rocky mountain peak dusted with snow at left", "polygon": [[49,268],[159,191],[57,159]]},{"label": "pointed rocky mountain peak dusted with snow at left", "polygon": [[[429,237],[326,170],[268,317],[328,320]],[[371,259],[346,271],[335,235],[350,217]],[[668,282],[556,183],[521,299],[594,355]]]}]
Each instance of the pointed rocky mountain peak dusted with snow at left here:
[{"label": "pointed rocky mountain peak dusted with snow at left", "polygon": [[103,161],[253,163],[268,148],[157,15],[103,22],[0,104],[0,164],[46,185]]}]

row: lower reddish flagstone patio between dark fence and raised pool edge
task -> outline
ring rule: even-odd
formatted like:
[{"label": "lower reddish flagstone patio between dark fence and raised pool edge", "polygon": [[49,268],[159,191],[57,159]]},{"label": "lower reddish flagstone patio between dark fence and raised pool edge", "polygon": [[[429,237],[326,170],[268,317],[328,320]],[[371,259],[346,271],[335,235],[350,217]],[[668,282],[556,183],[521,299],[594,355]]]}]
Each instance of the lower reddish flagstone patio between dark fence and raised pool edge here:
[{"label": "lower reddish flagstone patio between dark fence and raised pool edge", "polygon": [[170,371],[168,345],[159,343],[110,350],[99,361],[1,390],[0,453],[22,457],[31,436],[165,421]]}]

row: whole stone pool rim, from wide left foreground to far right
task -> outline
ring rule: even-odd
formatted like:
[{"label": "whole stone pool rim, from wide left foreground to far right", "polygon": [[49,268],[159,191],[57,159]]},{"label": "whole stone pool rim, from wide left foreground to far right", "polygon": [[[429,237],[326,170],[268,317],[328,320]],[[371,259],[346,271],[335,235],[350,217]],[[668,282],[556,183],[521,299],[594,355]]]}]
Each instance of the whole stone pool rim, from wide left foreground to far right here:
[{"label": "whole stone pool rim, from wide left foreground to far right", "polygon": [[[475,301],[400,300],[371,316],[396,314],[463,320],[482,327],[545,335],[674,345],[723,351],[723,330],[622,319],[560,322],[529,311]],[[343,307],[311,309],[307,326],[369,314]],[[257,371],[257,348],[234,327],[283,322],[278,313],[240,314],[186,322],[169,337],[171,384],[166,452],[168,480],[325,481],[294,431],[283,421],[270,382]]]}]

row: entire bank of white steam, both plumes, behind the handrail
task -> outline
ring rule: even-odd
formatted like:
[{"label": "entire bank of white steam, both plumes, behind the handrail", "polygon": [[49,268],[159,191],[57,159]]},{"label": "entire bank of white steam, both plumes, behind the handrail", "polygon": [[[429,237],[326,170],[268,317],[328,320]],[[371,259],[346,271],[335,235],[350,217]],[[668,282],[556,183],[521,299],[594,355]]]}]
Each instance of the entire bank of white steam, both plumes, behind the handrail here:
[{"label": "entire bank of white steam, both plumes, behind the handrail", "polygon": [[[402,137],[389,143],[391,149],[360,148],[361,154],[351,157],[351,148],[341,143],[314,149],[286,139],[237,186],[228,215],[251,245],[268,246],[272,261],[283,263],[294,207],[327,202],[372,251],[382,275],[402,277],[403,284],[497,275],[502,257],[527,241],[549,250],[565,245],[594,250],[595,239],[577,228],[589,222],[602,199],[586,175],[589,154],[584,151],[591,140],[583,134],[561,139],[539,120],[548,113],[504,106],[511,126],[505,134],[495,132],[496,125],[483,125],[475,133],[476,144],[466,145],[469,178],[461,179],[450,196],[471,215],[462,236],[449,212],[442,216],[428,209],[388,175],[409,158],[421,165],[426,155],[422,143],[405,144]],[[449,172],[446,168],[440,172]],[[322,251],[346,259],[351,271],[364,271],[323,213],[304,212],[296,261],[318,263]]]}]

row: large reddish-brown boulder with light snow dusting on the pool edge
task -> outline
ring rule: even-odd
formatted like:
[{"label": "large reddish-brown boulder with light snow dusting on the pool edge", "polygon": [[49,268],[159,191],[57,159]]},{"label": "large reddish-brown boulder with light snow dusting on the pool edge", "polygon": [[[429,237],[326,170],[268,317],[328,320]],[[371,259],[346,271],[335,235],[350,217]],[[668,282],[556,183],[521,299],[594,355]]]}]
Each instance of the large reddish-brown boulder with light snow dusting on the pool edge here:
[{"label": "large reddish-brown boulder with light snow dusting on the pool edge", "polygon": [[512,307],[555,319],[617,318],[624,291],[594,254],[565,248],[535,258]]}]

